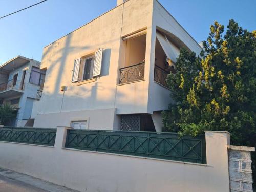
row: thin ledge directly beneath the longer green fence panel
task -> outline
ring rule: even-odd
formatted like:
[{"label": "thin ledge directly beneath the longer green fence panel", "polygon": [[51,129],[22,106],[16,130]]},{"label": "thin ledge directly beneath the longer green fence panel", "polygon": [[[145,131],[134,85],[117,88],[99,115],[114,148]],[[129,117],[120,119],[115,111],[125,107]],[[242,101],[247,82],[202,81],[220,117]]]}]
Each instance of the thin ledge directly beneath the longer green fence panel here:
[{"label": "thin ledge directly beneath the longer green fence panel", "polygon": [[175,160],[168,160],[168,159],[157,159],[157,158],[152,158],[152,157],[142,157],[142,156],[135,156],[135,155],[125,155],[125,154],[117,154],[117,153],[107,153],[107,152],[98,152],[98,151],[89,151],[89,150],[79,150],[77,148],[62,147],[62,150],[81,151],[81,152],[107,154],[107,155],[117,155],[117,156],[123,156],[123,157],[131,157],[131,158],[139,158],[139,159],[150,159],[150,160],[166,161],[166,162],[173,162],[173,163],[182,163],[182,164],[188,164],[188,165],[198,165],[198,166],[205,166],[205,167],[208,166],[207,164],[202,164],[202,163],[190,163],[190,162],[184,162],[184,161],[175,161]]}]

